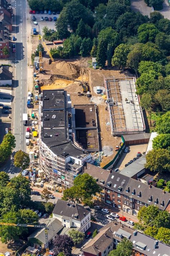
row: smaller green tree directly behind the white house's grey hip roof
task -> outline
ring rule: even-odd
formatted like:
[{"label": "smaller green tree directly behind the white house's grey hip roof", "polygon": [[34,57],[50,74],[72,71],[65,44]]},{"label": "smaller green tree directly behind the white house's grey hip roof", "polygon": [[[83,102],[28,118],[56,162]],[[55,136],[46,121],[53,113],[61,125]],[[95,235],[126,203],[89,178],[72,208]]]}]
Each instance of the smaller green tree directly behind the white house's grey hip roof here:
[{"label": "smaller green tree directly behind the white house's grey hip roof", "polygon": [[80,203],[82,200],[82,191],[79,186],[73,186],[63,191],[62,200],[71,201],[72,203]]}]

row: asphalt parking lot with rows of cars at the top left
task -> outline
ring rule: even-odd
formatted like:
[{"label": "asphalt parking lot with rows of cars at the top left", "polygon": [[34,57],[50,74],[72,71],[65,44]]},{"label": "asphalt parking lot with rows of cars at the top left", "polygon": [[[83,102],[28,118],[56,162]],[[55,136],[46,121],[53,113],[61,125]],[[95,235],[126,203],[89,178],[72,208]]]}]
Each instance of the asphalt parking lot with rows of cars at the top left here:
[{"label": "asphalt parking lot with rows of cars at the top left", "polygon": [[[32,17],[33,17],[33,15],[36,17],[36,21],[37,21],[37,25],[34,25],[34,21],[32,21]],[[59,17],[59,15],[60,14],[55,14],[55,15],[53,15],[53,14],[51,14],[51,15],[49,15],[49,14],[29,14],[28,15],[28,17],[30,18],[30,20],[31,20],[31,25],[32,25],[32,28],[37,28],[37,31],[38,31],[38,25],[39,25],[39,27],[40,27],[40,30],[41,30],[41,34],[43,35],[43,27],[44,26],[47,26],[48,28],[51,28],[51,29],[56,29],[55,28],[55,21],[53,20],[53,18],[54,17],[57,17],[57,19],[58,19],[58,17]],[[44,20],[43,21],[41,21],[41,17],[43,17],[44,18]],[[52,21],[45,21],[45,17],[48,17],[48,19],[51,17],[52,18]],[[33,33],[33,32],[32,32]]]}]

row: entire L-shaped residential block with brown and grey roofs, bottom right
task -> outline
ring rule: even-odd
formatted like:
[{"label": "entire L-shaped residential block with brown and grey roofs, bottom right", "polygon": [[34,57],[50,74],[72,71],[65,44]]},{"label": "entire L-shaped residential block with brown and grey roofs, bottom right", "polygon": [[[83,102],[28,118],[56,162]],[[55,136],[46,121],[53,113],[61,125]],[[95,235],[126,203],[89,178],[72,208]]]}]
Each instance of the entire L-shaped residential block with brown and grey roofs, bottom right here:
[{"label": "entire L-shaped residential block with brown and grey roofs, bottom right", "polygon": [[107,256],[123,238],[133,243],[133,252],[136,256],[170,256],[170,246],[167,244],[117,221],[112,221],[101,228],[99,233],[82,248],[83,255]]}]

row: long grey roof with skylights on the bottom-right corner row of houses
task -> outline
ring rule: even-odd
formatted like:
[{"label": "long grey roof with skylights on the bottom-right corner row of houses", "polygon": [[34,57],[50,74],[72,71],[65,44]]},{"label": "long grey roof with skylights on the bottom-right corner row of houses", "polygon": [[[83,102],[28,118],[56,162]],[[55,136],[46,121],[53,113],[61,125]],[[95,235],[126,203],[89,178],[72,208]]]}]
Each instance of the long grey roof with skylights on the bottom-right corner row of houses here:
[{"label": "long grey roof with skylights on the bottom-right corner row of houses", "polygon": [[[116,225],[115,225],[116,223]],[[147,256],[170,256],[170,246],[168,246],[167,244],[164,244],[160,241],[156,241],[154,238],[145,235],[141,232],[138,232],[132,228],[129,228],[128,226],[125,225],[121,225],[119,224],[117,221],[112,221],[109,224],[107,224],[106,226],[104,226],[103,228],[101,228],[99,231],[105,230],[106,228],[111,228],[112,229],[112,233],[113,233],[113,237],[119,241],[121,241],[121,239],[119,237],[116,236],[116,232],[118,230],[124,230],[128,233],[131,233],[131,237],[130,240],[133,243],[134,249],[143,253],[144,255]],[[99,232],[100,234],[100,232]],[[140,248],[136,247],[136,244],[141,243],[143,245],[146,245],[145,250],[142,250]]]}]

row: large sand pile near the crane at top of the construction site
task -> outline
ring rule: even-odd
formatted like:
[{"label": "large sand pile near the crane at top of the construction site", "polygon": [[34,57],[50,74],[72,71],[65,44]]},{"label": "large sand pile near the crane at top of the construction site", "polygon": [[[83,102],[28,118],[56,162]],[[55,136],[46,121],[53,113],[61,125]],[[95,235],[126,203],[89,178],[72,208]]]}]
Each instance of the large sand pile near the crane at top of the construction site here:
[{"label": "large sand pile near the crane at top of the construction site", "polygon": [[75,79],[79,76],[79,69],[70,62],[58,60],[56,63],[55,74],[62,77]]}]

